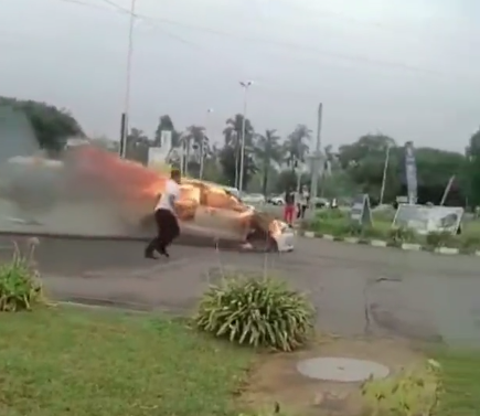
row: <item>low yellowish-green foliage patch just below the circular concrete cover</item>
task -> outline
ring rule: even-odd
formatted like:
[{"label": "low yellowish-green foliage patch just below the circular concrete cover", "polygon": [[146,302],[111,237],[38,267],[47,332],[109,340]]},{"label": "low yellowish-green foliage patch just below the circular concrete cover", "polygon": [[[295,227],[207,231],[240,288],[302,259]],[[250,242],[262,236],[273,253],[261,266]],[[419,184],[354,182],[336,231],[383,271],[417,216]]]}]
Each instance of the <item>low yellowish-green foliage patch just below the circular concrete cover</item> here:
[{"label": "low yellowish-green foliage patch just below the circular concrete cover", "polygon": [[369,380],[361,388],[365,414],[372,415],[433,416],[441,393],[440,366],[433,360],[385,380]]}]

